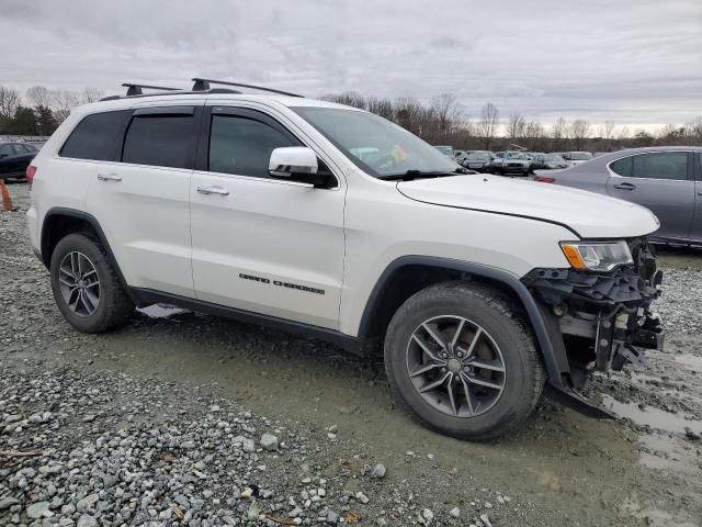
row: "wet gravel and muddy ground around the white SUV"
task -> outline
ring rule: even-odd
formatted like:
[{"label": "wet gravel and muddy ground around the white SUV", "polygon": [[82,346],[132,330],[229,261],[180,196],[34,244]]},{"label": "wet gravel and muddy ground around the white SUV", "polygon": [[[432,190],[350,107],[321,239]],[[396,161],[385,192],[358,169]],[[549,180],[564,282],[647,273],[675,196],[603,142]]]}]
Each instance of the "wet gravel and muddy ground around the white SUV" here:
[{"label": "wet gravel and muddy ground around the white SUV", "polygon": [[702,525],[702,254],[661,264],[666,351],[590,388],[620,422],[545,400],[474,445],[317,340],[162,306],[78,334],[0,213],[0,525]]}]

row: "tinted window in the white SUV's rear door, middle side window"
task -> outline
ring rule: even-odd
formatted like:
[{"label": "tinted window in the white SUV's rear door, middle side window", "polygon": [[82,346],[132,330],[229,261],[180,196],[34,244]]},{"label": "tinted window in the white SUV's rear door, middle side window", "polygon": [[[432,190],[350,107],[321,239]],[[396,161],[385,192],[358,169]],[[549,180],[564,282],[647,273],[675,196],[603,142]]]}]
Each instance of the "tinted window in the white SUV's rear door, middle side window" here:
[{"label": "tinted window in the white SUV's rear door, middle side window", "polygon": [[132,120],[124,138],[123,162],[186,168],[194,141],[192,115],[145,114]]}]

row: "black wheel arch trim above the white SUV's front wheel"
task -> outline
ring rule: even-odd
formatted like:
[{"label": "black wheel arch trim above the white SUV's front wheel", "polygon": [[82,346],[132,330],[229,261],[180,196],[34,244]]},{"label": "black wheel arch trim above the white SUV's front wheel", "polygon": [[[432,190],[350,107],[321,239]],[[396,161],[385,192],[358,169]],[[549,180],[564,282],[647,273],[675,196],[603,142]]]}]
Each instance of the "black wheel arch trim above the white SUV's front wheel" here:
[{"label": "black wheel arch trim above the white SUV's front wheel", "polygon": [[389,318],[405,300],[426,287],[455,279],[486,283],[520,302],[536,337],[548,382],[556,386],[567,385],[564,377],[569,375],[570,370],[554,315],[536,303],[514,274],[482,264],[430,256],[405,256],[394,260],[371,291],[361,316],[359,337],[363,340],[382,337]]}]

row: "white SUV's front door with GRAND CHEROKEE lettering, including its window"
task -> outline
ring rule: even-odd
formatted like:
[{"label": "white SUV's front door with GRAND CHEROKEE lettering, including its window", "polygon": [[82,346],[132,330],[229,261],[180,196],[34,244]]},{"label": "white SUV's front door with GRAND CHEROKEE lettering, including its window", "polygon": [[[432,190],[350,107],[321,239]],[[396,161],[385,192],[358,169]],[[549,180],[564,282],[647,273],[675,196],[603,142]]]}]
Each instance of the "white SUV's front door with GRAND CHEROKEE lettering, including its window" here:
[{"label": "white SUV's front door with GRAND CHEROKEE lettering, including its window", "polygon": [[271,178],[271,152],[303,143],[263,111],[208,110],[190,190],[197,299],[338,328],[343,181]]}]

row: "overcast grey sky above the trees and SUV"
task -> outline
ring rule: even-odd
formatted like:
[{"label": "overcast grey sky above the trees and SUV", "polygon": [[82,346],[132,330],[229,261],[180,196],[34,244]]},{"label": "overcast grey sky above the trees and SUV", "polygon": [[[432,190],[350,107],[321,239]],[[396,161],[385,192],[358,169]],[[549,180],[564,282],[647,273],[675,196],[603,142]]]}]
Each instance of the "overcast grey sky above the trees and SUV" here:
[{"label": "overcast grey sky above the trees and SUV", "polygon": [[[226,4],[226,5],[225,5]],[[702,114],[702,0],[1,0],[0,85],[193,76],[307,96],[460,97],[631,128]]]}]

